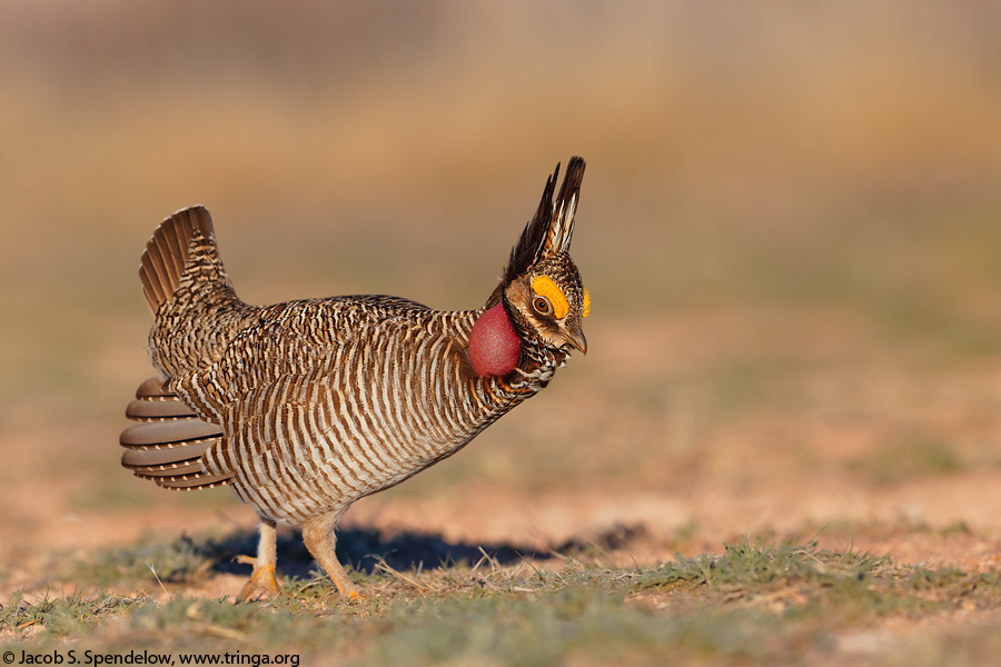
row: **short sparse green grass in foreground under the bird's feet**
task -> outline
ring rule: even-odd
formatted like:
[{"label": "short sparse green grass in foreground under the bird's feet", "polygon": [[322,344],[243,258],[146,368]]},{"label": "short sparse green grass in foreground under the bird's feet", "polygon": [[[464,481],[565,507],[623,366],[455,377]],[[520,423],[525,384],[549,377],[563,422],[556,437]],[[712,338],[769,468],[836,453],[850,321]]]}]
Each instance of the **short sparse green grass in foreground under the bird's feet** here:
[{"label": "short sparse green grass in foreground under the bird's feet", "polygon": [[527,560],[502,565],[486,555],[408,569],[376,559],[369,574],[353,573],[366,595],[360,604],[337,598],[319,575],[284,580],[285,595],[269,603],[184,594],[178,585],[204,580],[225,544],[186,538],[97,552],[78,565],[100,573],[156,560],[160,578],[180,593],[166,600],[102,588],[16,593],[0,609],[0,637],[13,650],[36,653],[238,648],[294,651],[307,664],[653,665],[667,655],[744,664],[824,655],[840,636],[888,619],[1001,607],[1001,576],[993,570],[898,565],[814,542],[761,539],[725,545],[717,556],[614,568],[579,550],[561,556],[554,569]]}]

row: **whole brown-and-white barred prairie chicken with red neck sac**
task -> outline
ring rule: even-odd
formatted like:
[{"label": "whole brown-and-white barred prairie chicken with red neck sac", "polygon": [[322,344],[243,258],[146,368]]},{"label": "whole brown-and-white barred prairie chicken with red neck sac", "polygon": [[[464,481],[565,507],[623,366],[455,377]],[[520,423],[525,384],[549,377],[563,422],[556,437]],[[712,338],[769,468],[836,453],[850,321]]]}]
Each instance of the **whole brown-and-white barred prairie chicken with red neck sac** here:
[{"label": "whole brown-and-white barred prairie chicken with red neck sac", "polygon": [[586,355],[591,298],[569,256],[585,162],[546,180],[486,301],[435,310],[385,296],[241,301],[202,206],[156,229],[139,278],[153,317],[121,465],[174,490],[229,485],[258,515],[237,599],[281,594],[278,525],[340,596],[363,596],[335,555],[347,508],[454,455]]}]

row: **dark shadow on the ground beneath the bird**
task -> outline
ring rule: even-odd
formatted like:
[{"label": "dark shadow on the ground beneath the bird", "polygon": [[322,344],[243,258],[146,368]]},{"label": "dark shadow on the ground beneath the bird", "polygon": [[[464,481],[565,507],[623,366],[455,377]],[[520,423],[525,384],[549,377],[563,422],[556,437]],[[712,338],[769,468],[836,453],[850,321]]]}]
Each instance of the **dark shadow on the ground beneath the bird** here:
[{"label": "dark shadow on the ground beneath the bird", "polygon": [[[348,527],[337,530],[337,558],[345,566],[371,574],[380,563],[398,571],[436,569],[455,564],[475,564],[485,556],[498,565],[522,560],[547,560],[574,556],[588,549],[614,550],[645,534],[643,526],[615,526],[592,538],[571,539],[549,548],[508,542],[483,544],[449,541],[435,532],[414,530],[384,531],[371,527]],[[252,555],[257,549],[257,531],[237,529],[218,539],[185,538],[188,547],[212,561],[217,573],[247,575],[249,567],[236,561],[239,555]],[[313,556],[303,542],[299,530],[279,531],[278,567],[285,577],[309,578],[317,569]]]}]

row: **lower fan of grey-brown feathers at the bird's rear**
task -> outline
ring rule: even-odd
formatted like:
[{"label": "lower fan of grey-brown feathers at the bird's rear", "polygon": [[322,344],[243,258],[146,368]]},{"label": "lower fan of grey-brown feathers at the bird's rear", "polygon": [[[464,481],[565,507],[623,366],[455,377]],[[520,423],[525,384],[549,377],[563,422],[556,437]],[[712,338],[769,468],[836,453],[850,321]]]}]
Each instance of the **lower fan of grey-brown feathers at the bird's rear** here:
[{"label": "lower fan of grey-brown feathers at the bird's rear", "polygon": [[219,441],[222,429],[199,419],[166,380],[149,378],[136,391],[126,416],[138,421],[121,432],[126,448],[121,465],[136,477],[151,479],[160,487],[194,491],[232,481],[232,475],[209,475],[201,455]]}]

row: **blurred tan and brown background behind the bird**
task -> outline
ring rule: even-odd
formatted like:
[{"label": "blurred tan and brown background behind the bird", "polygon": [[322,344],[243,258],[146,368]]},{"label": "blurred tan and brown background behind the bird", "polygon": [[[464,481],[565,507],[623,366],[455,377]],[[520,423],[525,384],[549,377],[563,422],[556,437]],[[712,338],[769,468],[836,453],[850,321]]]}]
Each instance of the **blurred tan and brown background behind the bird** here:
[{"label": "blurred tan and brown background behind the bird", "polygon": [[359,517],[475,536],[493,524],[432,509],[483,498],[518,539],[635,519],[712,540],[744,525],[713,532],[711,497],[746,526],[812,507],[801,527],[997,474],[999,33],[987,1],[4,1],[9,563],[254,522],[119,468],[162,218],[208,206],[249,302],[472,308],[572,155],[587,357]]}]

